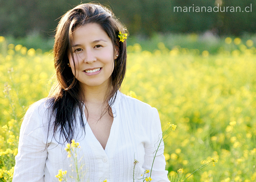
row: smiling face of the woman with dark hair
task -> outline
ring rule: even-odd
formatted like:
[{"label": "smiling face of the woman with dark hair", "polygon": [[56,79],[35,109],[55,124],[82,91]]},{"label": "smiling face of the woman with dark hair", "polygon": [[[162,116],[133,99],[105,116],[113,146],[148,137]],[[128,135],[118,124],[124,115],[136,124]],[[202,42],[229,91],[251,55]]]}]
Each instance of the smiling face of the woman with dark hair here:
[{"label": "smiling face of the woman with dark hair", "polygon": [[75,28],[73,33],[72,52],[68,55],[69,67],[76,79],[87,87],[108,86],[114,69],[114,59],[118,50],[108,34],[96,23],[89,23]]}]

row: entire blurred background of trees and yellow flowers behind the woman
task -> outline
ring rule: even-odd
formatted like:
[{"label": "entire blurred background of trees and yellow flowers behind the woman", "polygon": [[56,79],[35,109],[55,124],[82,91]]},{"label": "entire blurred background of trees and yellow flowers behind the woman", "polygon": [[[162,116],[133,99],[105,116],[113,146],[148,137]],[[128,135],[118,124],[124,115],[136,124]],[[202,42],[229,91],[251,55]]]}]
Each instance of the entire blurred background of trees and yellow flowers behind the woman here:
[{"label": "entire blurred background of trees and yellow flowers behind the woman", "polygon": [[[54,83],[54,28],[80,2],[1,1],[0,182],[9,180],[15,165],[22,117]],[[168,122],[177,125],[165,140],[169,176],[184,169],[188,177],[214,158],[215,166],[186,181],[256,181],[256,1],[99,3],[110,7],[130,33],[121,92],[156,107],[163,130]],[[241,12],[183,11],[218,5]]]}]

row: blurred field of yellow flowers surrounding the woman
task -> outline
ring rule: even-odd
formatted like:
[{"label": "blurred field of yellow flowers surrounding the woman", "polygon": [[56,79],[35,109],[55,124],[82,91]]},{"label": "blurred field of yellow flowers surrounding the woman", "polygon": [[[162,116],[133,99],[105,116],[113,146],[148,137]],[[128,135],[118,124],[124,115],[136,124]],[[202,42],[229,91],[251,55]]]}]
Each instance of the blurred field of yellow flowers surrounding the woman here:
[{"label": "blurred field of yellow flowers surrounding the woman", "polygon": [[[177,125],[165,139],[169,175],[184,169],[188,176],[212,157],[218,160],[215,166],[187,181],[256,181],[252,40],[227,37],[215,55],[179,46],[169,50],[163,43],[149,52],[134,44],[128,46],[127,64],[121,91],[133,91],[137,99],[156,107],[163,128],[168,122]],[[7,45],[0,36],[0,182],[8,180],[15,165],[22,117],[30,104],[48,95],[53,76],[52,50]]]}]

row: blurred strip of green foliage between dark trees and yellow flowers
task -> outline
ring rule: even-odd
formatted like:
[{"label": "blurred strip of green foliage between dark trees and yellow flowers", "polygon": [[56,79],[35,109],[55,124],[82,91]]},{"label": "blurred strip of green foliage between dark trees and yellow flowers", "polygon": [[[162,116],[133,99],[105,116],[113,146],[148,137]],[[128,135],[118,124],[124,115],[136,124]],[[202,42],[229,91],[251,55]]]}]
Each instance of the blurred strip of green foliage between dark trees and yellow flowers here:
[{"label": "blurred strip of green foliage between dark trees and yellow flowers", "polygon": [[[236,36],[230,36],[231,39],[235,39]],[[245,44],[248,39],[256,42],[256,35],[246,34],[240,36],[241,43]],[[127,39],[127,45],[131,46],[139,43],[142,47],[142,51],[154,52],[159,49],[159,42],[165,44],[166,48],[172,50],[174,47],[188,48],[198,50],[199,53],[203,51],[208,51],[210,54],[218,54],[224,48],[229,51],[236,50],[238,46],[230,46],[227,48],[225,44],[226,36],[214,36],[210,32],[205,32],[201,34],[196,33],[154,33],[151,37],[141,36],[141,35],[130,35]],[[49,51],[53,48],[54,37],[44,38],[39,34],[30,34],[26,37],[21,37],[19,39],[14,39],[12,36],[5,37],[7,44],[21,44],[28,49],[34,48],[41,49],[43,52]],[[1,51],[0,51],[1,53]]]}]

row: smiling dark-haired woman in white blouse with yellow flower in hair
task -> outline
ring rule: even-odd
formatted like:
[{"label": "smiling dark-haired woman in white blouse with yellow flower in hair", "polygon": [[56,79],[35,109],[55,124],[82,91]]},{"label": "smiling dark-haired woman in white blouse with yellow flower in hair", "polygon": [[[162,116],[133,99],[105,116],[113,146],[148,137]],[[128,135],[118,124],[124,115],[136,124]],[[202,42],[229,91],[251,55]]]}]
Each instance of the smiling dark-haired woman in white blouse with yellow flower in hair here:
[{"label": "smiling dark-haired woman in white blouse with yellow flower in hair", "polygon": [[[97,4],[78,5],[61,18],[54,43],[57,86],[26,112],[14,182],[57,181],[59,169],[74,175],[64,150],[72,139],[81,146],[82,181],[133,181],[135,159],[134,179],[151,169],[161,123],[155,108],[118,91],[126,69],[124,31]],[[158,154],[151,178],[168,181],[163,147]]]}]

